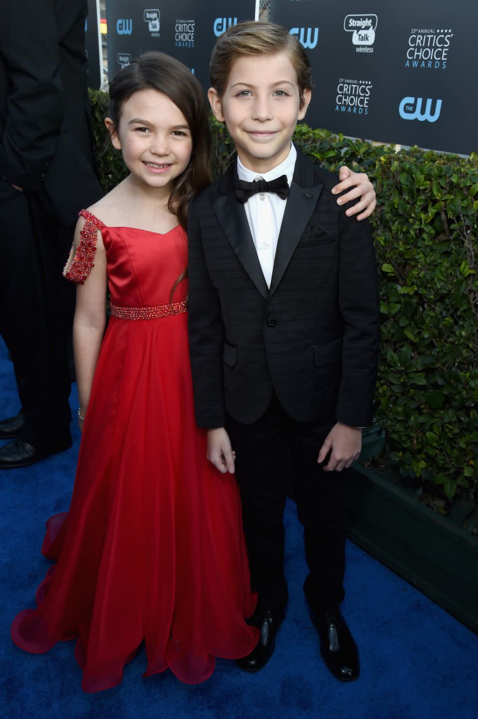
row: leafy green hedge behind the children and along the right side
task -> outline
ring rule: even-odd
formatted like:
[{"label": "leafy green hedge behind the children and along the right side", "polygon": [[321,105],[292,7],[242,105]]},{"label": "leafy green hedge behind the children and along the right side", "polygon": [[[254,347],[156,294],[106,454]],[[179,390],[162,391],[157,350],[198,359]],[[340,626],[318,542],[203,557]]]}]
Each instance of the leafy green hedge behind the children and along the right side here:
[{"label": "leafy green hedge behind the children and along the right side", "polygon": [[[102,146],[108,99],[98,91],[90,98]],[[218,175],[234,149],[222,125],[211,127]],[[375,416],[393,444],[393,461],[402,475],[439,485],[448,500],[459,487],[477,492],[478,155],[395,152],[305,125],[295,141],[332,172],[346,164],[375,182],[384,320]],[[124,176],[111,148],[98,169],[106,190]]]}]

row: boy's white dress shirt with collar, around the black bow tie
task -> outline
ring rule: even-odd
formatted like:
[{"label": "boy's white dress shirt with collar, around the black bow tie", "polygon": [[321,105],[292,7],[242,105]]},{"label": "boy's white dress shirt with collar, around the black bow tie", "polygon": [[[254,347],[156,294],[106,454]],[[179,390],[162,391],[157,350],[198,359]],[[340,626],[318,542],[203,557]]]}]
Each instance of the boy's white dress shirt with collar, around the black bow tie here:
[{"label": "boy's white dress shirt with collar, around the black bow tie", "polygon": [[[253,170],[245,168],[238,157],[239,179],[246,180],[246,182],[253,182],[254,180],[260,180],[262,178],[266,180],[266,182],[270,182],[271,180],[281,177],[281,175],[286,175],[290,187],[296,166],[296,157],[296,148],[294,145],[291,145],[291,151],[286,159],[283,160],[280,165],[277,165],[276,168],[262,175],[258,175],[258,173],[253,172]],[[275,192],[258,192],[244,203],[250,234],[253,236],[259,262],[261,262],[262,272],[268,288],[271,287],[277,240],[281,230],[286,203],[287,200],[281,200]]]}]

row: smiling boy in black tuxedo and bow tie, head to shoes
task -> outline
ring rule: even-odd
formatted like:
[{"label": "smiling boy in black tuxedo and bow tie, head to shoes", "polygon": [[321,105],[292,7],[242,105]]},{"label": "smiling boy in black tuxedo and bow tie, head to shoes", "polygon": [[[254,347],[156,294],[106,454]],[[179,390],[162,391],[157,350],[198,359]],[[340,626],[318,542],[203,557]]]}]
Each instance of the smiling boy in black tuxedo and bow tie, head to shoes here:
[{"label": "smiling boy in black tuxedo and bow tie, head to shoes", "polygon": [[293,470],[306,600],[327,667],[350,681],[360,667],[339,610],[342,470],[372,421],[380,313],[370,227],[337,206],[337,178],[291,145],[311,96],[296,38],[275,24],[238,24],[217,40],[210,69],[212,110],[238,160],[189,210],[189,347],[197,423],[210,460],[236,472],[259,595],[251,621],[261,640],[238,664],[266,664],[285,614]]}]

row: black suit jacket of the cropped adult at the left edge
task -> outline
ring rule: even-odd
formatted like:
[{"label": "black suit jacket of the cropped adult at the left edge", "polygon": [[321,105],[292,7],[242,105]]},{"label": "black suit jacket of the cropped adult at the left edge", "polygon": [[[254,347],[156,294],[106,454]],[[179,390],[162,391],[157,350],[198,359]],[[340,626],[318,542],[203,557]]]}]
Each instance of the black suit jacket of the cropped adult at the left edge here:
[{"label": "black suit jacket of the cropped adult at the left edge", "polygon": [[0,178],[71,224],[103,194],[92,168],[87,0],[0,3]]}]

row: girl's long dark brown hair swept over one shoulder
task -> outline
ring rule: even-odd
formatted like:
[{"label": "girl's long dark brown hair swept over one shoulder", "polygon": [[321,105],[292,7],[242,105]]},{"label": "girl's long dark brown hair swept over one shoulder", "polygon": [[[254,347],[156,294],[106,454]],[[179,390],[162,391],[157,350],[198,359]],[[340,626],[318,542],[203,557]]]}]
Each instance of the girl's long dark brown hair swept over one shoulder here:
[{"label": "girl's long dark brown hair swept over one shoulder", "polygon": [[[186,65],[164,52],[144,52],[126,68],[120,70],[110,85],[110,117],[115,127],[123,104],[133,93],[148,89],[167,95],[179,108],[189,125],[192,154],[189,165],[175,178],[168,209],[187,229],[187,209],[195,193],[210,185],[210,129],[209,113],[202,87]],[[177,285],[187,276],[187,269],[179,275],[171,290],[170,301]]]}]

